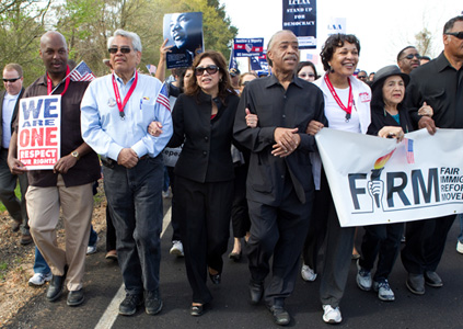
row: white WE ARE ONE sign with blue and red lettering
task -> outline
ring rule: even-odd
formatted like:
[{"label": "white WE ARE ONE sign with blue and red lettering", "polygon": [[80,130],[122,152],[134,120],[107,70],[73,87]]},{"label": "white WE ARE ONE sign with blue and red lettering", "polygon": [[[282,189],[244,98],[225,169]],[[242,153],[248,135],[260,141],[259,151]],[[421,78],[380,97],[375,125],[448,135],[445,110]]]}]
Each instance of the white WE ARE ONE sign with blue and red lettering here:
[{"label": "white WE ARE ONE sign with blue and red lettering", "polygon": [[60,158],[61,95],[22,99],[18,158],[28,170],[53,169]]}]

